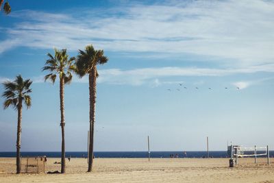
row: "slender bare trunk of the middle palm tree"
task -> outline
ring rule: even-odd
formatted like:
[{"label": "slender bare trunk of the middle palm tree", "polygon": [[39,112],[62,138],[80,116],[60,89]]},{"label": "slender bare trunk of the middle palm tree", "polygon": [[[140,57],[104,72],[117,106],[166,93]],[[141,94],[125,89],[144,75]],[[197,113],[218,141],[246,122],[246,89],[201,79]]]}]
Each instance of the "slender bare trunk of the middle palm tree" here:
[{"label": "slender bare trunk of the middle palm tree", "polygon": [[61,130],[62,130],[62,155],[61,155],[61,173],[66,173],[66,154],[64,147],[64,77],[60,78],[60,111],[61,111]]}]

